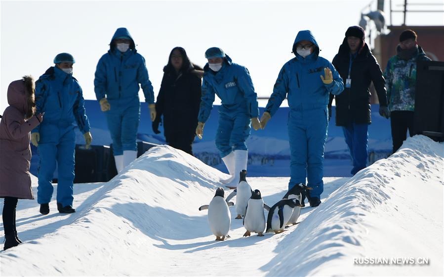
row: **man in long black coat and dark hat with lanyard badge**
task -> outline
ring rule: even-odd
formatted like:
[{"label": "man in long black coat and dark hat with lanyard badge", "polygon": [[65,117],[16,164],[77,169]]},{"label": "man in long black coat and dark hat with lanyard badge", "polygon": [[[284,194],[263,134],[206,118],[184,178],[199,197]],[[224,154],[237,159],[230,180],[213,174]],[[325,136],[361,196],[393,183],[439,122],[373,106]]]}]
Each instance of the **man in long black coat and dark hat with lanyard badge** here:
[{"label": "man in long black coat and dark hat with lanyard badge", "polygon": [[336,97],[336,126],[341,126],[344,131],[353,161],[351,173],[355,175],[366,167],[367,162],[367,129],[371,124],[370,82],[373,82],[378,94],[379,114],[390,117],[385,80],[378,62],[365,43],[364,30],[359,26],[347,29],[332,64],[344,80],[345,89],[339,95],[330,94],[328,119],[331,117],[333,98]]}]

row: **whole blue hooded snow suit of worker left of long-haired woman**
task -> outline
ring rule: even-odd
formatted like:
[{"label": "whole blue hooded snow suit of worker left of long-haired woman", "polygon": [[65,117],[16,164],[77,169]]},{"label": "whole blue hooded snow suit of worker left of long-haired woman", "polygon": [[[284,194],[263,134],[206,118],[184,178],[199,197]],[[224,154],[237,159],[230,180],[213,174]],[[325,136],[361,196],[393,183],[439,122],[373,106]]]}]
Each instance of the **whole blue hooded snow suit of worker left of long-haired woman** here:
[{"label": "whole blue hooded snow suit of worker left of long-haired woman", "polygon": [[[121,36],[127,36],[131,40],[129,49],[124,53],[114,45],[114,39]],[[145,95],[145,102],[154,104],[154,91],[145,59],[137,53],[128,30],[119,28],[111,39],[110,50],[100,58],[94,78],[97,100],[106,97],[111,106],[110,110],[105,111],[105,115],[115,156],[122,155],[124,150],[137,150],[139,84]]]}]

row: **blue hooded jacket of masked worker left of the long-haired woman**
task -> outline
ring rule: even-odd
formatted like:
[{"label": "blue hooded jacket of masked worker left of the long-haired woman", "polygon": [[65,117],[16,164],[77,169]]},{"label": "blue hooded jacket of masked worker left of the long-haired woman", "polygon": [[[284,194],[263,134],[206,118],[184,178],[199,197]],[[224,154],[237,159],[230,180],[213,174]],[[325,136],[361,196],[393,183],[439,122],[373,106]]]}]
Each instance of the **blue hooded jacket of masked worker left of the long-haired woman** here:
[{"label": "blue hooded jacket of masked worker left of the long-haired woman", "polygon": [[[121,53],[114,45],[114,39],[121,36],[127,36],[131,40],[129,49],[125,53]],[[145,95],[145,101],[154,104],[154,91],[148,77],[145,59],[137,53],[128,30],[119,28],[111,39],[110,50],[97,64],[94,78],[96,98],[100,100],[105,95],[108,100],[138,97],[139,84]]]}]

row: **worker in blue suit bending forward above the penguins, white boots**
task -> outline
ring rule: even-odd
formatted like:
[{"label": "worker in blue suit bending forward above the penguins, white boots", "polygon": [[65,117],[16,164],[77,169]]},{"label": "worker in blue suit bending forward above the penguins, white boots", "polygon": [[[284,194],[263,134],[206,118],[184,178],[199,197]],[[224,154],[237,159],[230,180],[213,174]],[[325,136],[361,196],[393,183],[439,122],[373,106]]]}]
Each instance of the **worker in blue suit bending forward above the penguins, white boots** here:
[{"label": "worker in blue suit bending forward above the penguins, white boots", "polygon": [[203,126],[208,119],[214,95],[221,99],[216,147],[231,177],[221,180],[228,188],[236,188],[240,172],[246,170],[248,149],[245,140],[251,127],[260,129],[257,94],[254,92],[248,69],[232,63],[230,57],[218,47],[205,52],[208,63],[203,68],[202,101],[196,135],[202,138]]}]

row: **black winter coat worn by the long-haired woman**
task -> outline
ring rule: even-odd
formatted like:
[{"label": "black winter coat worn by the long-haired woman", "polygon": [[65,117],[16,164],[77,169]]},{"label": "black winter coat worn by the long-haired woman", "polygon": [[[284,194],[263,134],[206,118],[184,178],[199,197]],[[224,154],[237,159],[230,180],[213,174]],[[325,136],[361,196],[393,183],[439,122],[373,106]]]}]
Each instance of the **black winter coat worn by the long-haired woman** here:
[{"label": "black winter coat worn by the long-haired woman", "polygon": [[[196,69],[199,69],[196,66]],[[201,104],[201,78],[192,67],[177,75],[175,70],[163,69],[161,89],[156,102],[156,121],[163,115],[165,138],[179,134],[193,135],[198,125]]]}]

